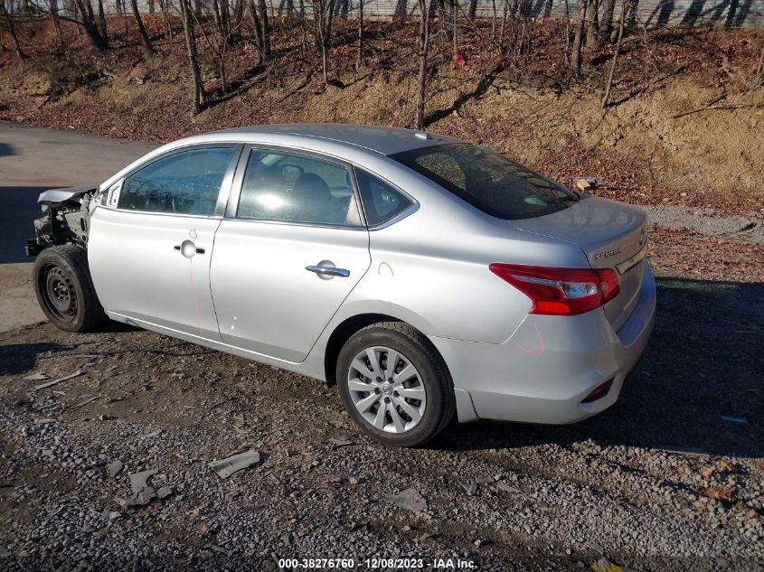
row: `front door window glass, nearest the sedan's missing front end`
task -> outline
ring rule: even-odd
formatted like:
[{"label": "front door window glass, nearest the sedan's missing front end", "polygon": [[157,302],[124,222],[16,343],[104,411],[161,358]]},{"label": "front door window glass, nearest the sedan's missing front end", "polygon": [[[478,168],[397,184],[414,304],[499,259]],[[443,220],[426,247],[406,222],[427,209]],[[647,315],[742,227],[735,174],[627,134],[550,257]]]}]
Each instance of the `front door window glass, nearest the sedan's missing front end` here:
[{"label": "front door window glass, nearest the sedan's missing front end", "polygon": [[125,179],[117,207],[212,216],[233,151],[214,147],[163,157]]}]

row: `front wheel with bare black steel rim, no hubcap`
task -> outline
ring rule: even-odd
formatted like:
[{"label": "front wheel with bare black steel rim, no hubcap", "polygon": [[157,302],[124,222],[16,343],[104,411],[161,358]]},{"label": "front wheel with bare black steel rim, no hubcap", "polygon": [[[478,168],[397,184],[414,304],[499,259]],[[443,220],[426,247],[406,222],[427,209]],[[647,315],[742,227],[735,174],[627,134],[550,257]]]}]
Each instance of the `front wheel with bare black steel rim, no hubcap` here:
[{"label": "front wheel with bare black steel rim, no hubcap", "polygon": [[34,260],[33,285],[42,312],[61,330],[87,332],[107,320],[84,248],[65,244],[42,250]]}]

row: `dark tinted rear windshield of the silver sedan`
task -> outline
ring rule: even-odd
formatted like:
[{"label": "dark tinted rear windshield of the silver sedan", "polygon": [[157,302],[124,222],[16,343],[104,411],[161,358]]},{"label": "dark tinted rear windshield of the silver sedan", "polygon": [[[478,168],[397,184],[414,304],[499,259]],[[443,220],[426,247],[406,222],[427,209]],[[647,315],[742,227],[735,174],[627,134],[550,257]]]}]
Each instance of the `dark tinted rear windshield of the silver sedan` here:
[{"label": "dark tinted rear windshield of the silver sedan", "polygon": [[561,184],[477,145],[421,147],[391,158],[499,219],[540,217],[579,200]]}]

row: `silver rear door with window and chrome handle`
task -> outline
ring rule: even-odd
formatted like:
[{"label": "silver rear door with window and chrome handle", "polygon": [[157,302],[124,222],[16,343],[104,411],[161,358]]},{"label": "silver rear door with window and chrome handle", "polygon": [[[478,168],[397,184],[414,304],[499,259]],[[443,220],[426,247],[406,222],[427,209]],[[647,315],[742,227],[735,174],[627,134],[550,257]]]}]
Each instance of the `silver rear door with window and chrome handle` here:
[{"label": "silver rear door with window and chrome handle", "polygon": [[215,234],[222,341],[299,362],[371,264],[352,170],[321,155],[250,147]]}]

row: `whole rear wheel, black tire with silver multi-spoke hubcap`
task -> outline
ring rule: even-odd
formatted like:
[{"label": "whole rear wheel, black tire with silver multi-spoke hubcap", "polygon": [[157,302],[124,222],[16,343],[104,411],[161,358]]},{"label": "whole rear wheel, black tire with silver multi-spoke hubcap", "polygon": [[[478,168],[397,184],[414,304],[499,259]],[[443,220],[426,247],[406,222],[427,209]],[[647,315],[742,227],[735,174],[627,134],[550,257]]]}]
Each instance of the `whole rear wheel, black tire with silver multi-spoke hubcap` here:
[{"label": "whole rear wheel, black tire with silver multi-spoke hubcap", "polygon": [[373,324],[345,342],[337,386],[356,425],[384,445],[418,446],[454,417],[445,362],[409,324]]}]

